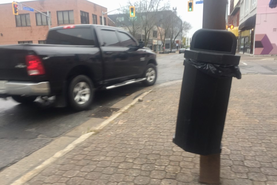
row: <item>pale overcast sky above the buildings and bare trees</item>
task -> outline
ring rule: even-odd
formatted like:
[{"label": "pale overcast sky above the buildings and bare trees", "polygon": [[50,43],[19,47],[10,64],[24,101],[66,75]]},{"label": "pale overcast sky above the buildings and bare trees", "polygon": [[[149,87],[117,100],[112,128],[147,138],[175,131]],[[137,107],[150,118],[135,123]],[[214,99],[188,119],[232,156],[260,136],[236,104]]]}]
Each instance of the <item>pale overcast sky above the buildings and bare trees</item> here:
[{"label": "pale overcast sky above the buildings and bare trees", "polygon": [[[11,3],[13,0],[0,0],[0,4],[3,3]],[[18,2],[23,2],[26,0],[17,0]],[[59,1],[59,0],[57,0]],[[120,6],[127,5],[128,0],[88,0],[98,5],[104,6],[108,8],[108,11],[112,11],[114,9],[120,8]],[[135,2],[136,0],[130,0],[131,2]],[[194,0],[199,1],[199,0]],[[230,0],[229,0],[230,1]],[[192,29],[189,33],[187,33],[188,37],[191,37],[192,34],[202,28],[202,17],[203,17],[203,4],[195,4],[193,6],[193,12],[188,12],[188,0],[171,0],[170,1],[171,10],[173,7],[177,7],[177,14],[181,16],[183,21],[187,21],[192,25]],[[110,14],[113,14],[111,12]]]}]

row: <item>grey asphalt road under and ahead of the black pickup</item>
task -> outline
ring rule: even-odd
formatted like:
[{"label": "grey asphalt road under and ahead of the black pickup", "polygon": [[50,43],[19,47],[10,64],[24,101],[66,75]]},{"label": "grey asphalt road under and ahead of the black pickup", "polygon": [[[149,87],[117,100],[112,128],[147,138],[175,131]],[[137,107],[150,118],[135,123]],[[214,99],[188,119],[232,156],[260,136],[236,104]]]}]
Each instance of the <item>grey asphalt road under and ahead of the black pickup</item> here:
[{"label": "grey asphalt road under and ahead of the black pickup", "polygon": [[[184,54],[158,56],[156,84],[180,80],[183,77]],[[277,61],[242,61],[243,74],[277,75]],[[0,171],[40,149],[56,137],[84,123],[92,112],[110,107],[128,95],[143,89],[141,83],[96,92],[90,110],[73,112],[69,108],[54,108],[50,102],[35,102],[24,106],[12,99],[0,99]]]}]

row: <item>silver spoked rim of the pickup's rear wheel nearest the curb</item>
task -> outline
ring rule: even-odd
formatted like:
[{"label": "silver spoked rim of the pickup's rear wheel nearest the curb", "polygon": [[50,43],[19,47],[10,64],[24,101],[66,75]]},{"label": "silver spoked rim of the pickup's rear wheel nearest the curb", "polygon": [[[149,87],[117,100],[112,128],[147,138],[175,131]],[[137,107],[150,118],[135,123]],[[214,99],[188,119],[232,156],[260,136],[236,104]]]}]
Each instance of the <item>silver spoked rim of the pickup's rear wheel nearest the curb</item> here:
[{"label": "silver spoked rim of the pickup's rear wheel nearest the curb", "polygon": [[90,98],[90,87],[86,82],[79,82],[73,89],[74,101],[78,104],[84,104],[89,101]]}]

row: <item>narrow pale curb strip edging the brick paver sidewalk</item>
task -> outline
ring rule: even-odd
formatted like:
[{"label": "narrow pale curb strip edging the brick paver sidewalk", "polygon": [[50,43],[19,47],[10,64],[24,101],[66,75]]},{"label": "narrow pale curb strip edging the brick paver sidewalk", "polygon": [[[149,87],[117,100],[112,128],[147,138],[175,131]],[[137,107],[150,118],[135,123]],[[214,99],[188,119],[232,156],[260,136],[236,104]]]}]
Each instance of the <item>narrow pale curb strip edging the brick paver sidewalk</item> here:
[{"label": "narrow pale curb strip edging the brick paver sidewalk", "polygon": [[[149,92],[151,92],[152,90],[149,90],[147,92],[144,92],[142,95],[140,95],[139,97],[137,97],[136,99],[134,99],[131,103],[129,103],[127,106],[121,108],[116,114],[114,114],[113,116],[111,116],[110,118],[108,118],[107,120],[103,121],[98,127],[96,127],[96,130],[100,130],[103,127],[105,127],[108,123],[110,123],[111,121],[113,121],[114,119],[116,119],[118,116],[120,116],[123,112],[125,112],[128,108],[130,108],[131,106],[133,106],[136,102],[139,101],[139,99],[142,99],[143,97],[145,97],[147,94],[149,94]],[[65,149],[62,149],[60,151],[58,151],[57,153],[55,153],[52,157],[48,158],[47,160],[45,160],[42,164],[40,164],[39,166],[37,166],[35,169],[29,171],[28,173],[26,173],[25,175],[21,176],[18,180],[14,181],[11,185],[23,185],[26,182],[28,182],[29,180],[31,180],[35,175],[38,175],[38,173],[40,173],[41,171],[43,171],[48,165],[50,165],[51,163],[55,162],[57,159],[61,158],[62,156],[64,156],[66,153],[68,153],[69,151],[71,151],[72,149],[74,149],[79,143],[82,143],[83,141],[85,141],[87,138],[89,138],[89,136],[93,135],[95,132],[89,132],[87,134],[84,134],[82,136],[80,136],[79,138],[77,138],[76,140],[74,140],[72,143],[70,143],[67,147],[65,147]]]}]

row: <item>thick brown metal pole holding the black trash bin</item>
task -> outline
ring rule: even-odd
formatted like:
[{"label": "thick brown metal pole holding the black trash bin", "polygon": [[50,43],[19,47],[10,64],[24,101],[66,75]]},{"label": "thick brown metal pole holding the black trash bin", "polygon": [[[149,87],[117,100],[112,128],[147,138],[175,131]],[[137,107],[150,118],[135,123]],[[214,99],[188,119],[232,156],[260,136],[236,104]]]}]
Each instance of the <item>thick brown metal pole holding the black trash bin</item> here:
[{"label": "thick brown metal pole holding the black trash bin", "polygon": [[[209,0],[203,3],[203,28],[224,30],[228,0]],[[200,156],[199,182],[220,184],[220,153]]]}]

